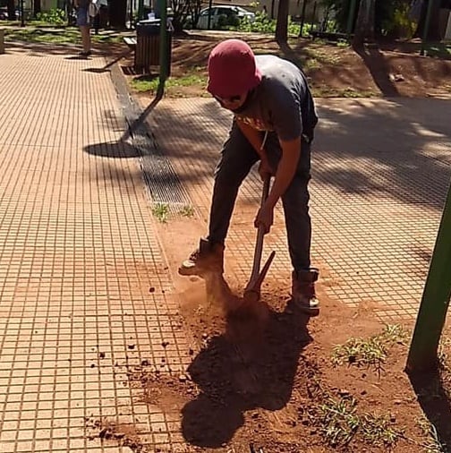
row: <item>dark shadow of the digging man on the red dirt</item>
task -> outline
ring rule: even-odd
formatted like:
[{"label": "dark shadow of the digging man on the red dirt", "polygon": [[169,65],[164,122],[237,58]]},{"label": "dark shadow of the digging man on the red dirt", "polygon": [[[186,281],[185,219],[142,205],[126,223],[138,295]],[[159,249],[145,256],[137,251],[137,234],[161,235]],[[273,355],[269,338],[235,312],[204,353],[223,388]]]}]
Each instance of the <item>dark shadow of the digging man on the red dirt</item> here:
[{"label": "dark shadow of the digging man on the red dirt", "polygon": [[[202,276],[204,277],[204,276]],[[231,440],[246,411],[276,411],[289,401],[299,356],[311,342],[309,317],[288,303],[283,312],[244,303],[222,276],[207,276],[211,303],[225,308],[225,332],[211,338],[188,372],[200,389],[182,410],[186,441],[217,448]]]}]

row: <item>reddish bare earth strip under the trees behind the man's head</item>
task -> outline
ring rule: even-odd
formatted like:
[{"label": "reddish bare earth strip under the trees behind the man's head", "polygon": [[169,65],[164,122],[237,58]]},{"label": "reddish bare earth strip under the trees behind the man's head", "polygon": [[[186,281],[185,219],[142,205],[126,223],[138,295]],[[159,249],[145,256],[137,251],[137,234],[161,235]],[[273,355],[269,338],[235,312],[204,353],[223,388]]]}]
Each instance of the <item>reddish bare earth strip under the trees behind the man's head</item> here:
[{"label": "reddish bare earth strip under the trees behind the man's head", "polygon": [[[224,34],[174,37],[172,77],[196,74],[206,81],[208,53],[222,38]],[[352,47],[308,39],[291,39],[288,46],[279,46],[271,37],[250,34],[245,39],[257,54],[283,56],[300,65],[316,97],[451,96],[451,60],[419,56],[408,43],[356,52]],[[123,59],[121,64],[130,67],[132,58]],[[127,76],[129,80],[136,77]],[[139,94],[144,101],[152,95]],[[205,82],[168,87],[166,95],[205,96]]]}]

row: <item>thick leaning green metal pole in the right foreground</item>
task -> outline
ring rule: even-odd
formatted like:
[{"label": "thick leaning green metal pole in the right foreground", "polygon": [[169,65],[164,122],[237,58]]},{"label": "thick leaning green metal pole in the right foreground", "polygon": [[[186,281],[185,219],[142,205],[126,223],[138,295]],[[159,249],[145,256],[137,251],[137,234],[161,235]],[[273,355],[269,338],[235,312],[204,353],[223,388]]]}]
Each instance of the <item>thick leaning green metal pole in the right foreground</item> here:
[{"label": "thick leaning green metal pole in the right foreground", "polygon": [[421,298],[412,343],[407,357],[407,372],[437,368],[438,342],[447,317],[451,297],[451,186],[443,211],[426,285]]}]

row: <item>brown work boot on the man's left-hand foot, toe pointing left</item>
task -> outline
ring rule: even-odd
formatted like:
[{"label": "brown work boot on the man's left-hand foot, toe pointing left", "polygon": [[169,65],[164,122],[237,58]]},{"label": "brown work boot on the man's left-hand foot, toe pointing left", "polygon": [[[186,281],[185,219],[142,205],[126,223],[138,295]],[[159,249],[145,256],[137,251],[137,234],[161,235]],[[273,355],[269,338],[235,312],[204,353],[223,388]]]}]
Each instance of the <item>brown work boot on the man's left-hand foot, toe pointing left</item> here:
[{"label": "brown work boot on the man's left-hand foot, toe pointing left", "polygon": [[199,248],[191,253],[188,260],[183,261],[178,270],[180,275],[202,276],[206,272],[224,273],[224,245],[211,244],[200,239]]}]

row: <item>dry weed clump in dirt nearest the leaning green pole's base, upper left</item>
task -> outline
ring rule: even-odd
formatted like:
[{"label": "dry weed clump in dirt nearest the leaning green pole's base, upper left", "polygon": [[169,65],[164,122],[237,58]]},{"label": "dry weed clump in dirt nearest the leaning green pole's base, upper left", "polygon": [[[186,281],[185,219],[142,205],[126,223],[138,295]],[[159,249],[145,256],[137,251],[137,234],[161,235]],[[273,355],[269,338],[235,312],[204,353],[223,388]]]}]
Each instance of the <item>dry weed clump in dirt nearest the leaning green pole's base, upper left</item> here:
[{"label": "dry weed clump in dirt nearest the leaning green pole's base, upper left", "polygon": [[374,367],[383,370],[388,349],[396,343],[404,343],[406,334],[399,325],[387,325],[384,330],[370,338],[349,338],[344,345],[337,345],[332,352],[332,363]]}]

